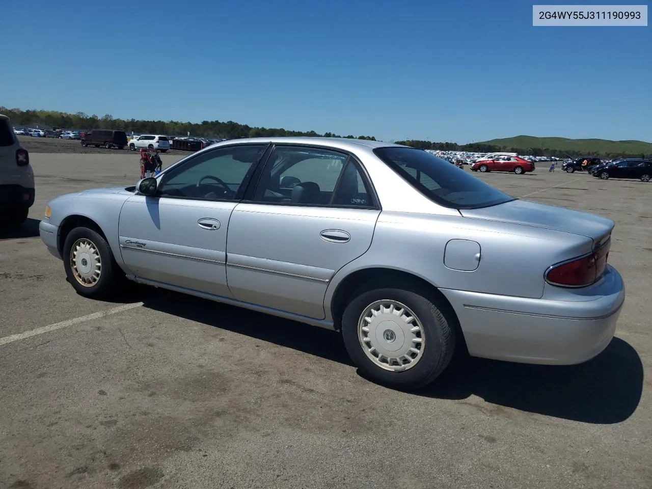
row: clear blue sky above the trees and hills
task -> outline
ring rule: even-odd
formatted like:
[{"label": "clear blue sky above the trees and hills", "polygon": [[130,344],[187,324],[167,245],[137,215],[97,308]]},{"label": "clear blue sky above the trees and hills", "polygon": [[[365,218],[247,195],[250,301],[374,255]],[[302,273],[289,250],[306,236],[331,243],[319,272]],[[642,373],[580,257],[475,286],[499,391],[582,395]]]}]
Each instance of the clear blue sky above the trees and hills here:
[{"label": "clear blue sky above the trees and hills", "polygon": [[652,141],[650,25],[533,27],[525,1],[1,3],[15,22],[0,106],[386,141]]}]

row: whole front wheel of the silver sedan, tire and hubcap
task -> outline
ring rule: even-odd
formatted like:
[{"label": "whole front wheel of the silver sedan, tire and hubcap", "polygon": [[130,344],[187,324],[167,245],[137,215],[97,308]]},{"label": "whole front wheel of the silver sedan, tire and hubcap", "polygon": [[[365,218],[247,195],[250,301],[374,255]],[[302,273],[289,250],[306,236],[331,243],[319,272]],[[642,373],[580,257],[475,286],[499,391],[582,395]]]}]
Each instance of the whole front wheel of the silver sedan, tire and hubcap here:
[{"label": "whole front wheel of the silver sedan, tire and hubcap", "polygon": [[63,244],[63,267],[72,287],[92,299],[110,297],[124,276],[106,239],[85,227],[68,233]]}]

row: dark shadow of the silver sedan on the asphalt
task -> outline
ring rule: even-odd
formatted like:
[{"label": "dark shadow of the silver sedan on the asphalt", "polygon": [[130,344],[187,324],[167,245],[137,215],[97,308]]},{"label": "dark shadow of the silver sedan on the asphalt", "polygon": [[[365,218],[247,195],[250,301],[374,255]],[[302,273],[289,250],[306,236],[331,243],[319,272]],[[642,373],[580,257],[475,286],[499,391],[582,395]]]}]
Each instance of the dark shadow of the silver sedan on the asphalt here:
[{"label": "dark shadow of the silver sedan on the asphalt", "polygon": [[[155,290],[155,295],[140,299],[145,307],[353,366],[342,336],[334,331]],[[449,400],[479,396],[497,406],[529,413],[613,424],[636,411],[643,381],[643,364],[636,350],[614,338],[595,359],[573,366],[507,363],[460,353],[434,383],[411,394]]]}]

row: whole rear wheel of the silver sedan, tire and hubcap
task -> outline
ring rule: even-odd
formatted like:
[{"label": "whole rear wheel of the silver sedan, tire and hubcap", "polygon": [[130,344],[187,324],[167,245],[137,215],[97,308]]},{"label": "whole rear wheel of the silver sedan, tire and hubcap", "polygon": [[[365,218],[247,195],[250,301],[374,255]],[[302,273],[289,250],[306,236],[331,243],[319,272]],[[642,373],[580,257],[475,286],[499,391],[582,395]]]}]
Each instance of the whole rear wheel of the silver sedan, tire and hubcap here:
[{"label": "whole rear wheel of the silver sedan, tire and hubcap", "polygon": [[452,358],[455,331],[444,310],[409,284],[363,288],[344,310],[344,344],[364,376],[400,389],[422,387]]}]

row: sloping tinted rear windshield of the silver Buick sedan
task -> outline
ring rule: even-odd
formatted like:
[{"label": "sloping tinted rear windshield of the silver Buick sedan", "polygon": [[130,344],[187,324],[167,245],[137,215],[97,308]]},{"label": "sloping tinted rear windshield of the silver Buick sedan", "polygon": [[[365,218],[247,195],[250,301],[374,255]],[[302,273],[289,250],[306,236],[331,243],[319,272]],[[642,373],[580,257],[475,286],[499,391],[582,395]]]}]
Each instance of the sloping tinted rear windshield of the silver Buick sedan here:
[{"label": "sloping tinted rear windshield of the silver Buick sedan", "polygon": [[479,209],[516,200],[421,149],[382,147],[374,153],[424,196],[445,207]]}]

